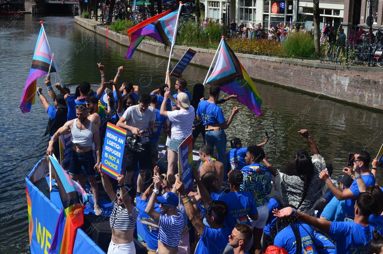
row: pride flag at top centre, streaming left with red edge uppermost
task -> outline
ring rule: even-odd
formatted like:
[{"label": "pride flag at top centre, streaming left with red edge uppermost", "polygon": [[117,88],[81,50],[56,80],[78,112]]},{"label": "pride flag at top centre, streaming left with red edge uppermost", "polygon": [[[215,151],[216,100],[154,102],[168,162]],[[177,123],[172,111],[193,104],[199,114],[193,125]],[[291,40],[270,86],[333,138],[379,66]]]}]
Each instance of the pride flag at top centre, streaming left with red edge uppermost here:
[{"label": "pride flag at top centre, streaming left with red edge uppermost", "polygon": [[178,10],[173,12],[172,10],[167,10],[166,12],[152,16],[130,28],[128,30],[130,45],[126,58],[129,59],[133,56],[134,51],[141,41],[144,40],[145,36],[149,36],[160,43],[171,47],[177,16]]}]

